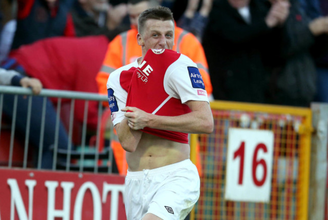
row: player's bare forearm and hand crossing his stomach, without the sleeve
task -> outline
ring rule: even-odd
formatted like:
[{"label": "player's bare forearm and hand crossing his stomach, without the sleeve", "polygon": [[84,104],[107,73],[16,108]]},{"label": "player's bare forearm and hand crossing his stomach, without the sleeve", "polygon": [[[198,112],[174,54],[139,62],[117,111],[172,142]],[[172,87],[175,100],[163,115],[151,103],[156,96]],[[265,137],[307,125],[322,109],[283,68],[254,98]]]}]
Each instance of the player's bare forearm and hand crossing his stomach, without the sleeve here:
[{"label": "player's bare forearm and hand crossing his stomach, without the sleeve", "polygon": [[186,104],[191,112],[181,116],[157,116],[130,106],[123,108],[122,111],[129,111],[125,113],[125,117],[127,117],[129,128],[133,130],[149,127],[193,134],[212,133],[213,117],[209,103],[190,100]]}]

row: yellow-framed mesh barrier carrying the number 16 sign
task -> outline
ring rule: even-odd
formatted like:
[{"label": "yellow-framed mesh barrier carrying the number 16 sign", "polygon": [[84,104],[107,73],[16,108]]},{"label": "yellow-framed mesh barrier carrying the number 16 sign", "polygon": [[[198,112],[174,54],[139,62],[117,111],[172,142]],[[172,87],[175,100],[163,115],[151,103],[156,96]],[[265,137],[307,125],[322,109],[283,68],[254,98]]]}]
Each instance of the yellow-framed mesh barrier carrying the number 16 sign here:
[{"label": "yellow-framed mesh barrier carrying the number 16 sign", "polygon": [[[249,104],[239,102],[211,102],[214,118],[214,132],[199,135],[203,176],[201,194],[191,219],[307,219],[308,190],[311,141],[311,110],[286,106]],[[247,141],[238,151],[228,155],[228,137],[231,128],[244,128],[251,131],[272,131],[274,134],[273,160],[268,164],[264,158],[264,145],[255,150],[253,158],[253,182],[244,166],[241,153],[248,150]],[[239,138],[237,136],[237,138]],[[247,137],[246,137],[247,139]],[[262,148],[261,148],[262,147]],[[243,150],[243,151],[241,151]],[[244,155],[244,154],[243,154]],[[255,156],[254,156],[255,155]],[[230,158],[231,157],[231,158]],[[262,158],[263,157],[263,158]],[[227,161],[231,159],[239,164],[234,172],[228,172]],[[247,160],[248,159],[248,160]],[[244,184],[241,181],[260,186],[272,165],[269,200],[266,202],[240,201],[225,199],[227,179],[236,179],[236,190]],[[245,165],[246,166],[246,165]],[[257,169],[259,168],[259,169]],[[258,171],[262,170],[262,177]],[[251,172],[249,172],[250,174]],[[243,176],[244,175],[244,176]],[[244,179],[243,179],[244,178]],[[245,180],[246,179],[246,180]],[[255,181],[256,180],[256,181]],[[240,184],[240,185],[238,185]],[[261,188],[261,187],[257,187]],[[250,198],[251,189],[244,191]]]}]

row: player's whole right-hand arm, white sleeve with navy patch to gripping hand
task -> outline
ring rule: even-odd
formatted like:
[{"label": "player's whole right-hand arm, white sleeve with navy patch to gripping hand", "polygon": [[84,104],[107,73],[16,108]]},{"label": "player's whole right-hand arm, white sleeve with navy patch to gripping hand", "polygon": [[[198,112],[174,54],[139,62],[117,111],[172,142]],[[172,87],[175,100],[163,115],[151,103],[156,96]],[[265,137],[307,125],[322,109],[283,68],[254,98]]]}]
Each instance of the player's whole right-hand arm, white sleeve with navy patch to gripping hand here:
[{"label": "player's whole right-hand arm, white sleeve with navy patch to gripping hand", "polygon": [[[166,92],[187,104],[190,113],[180,116],[158,116],[146,113],[136,107],[122,109],[131,129],[144,127],[178,131],[184,133],[206,133],[213,131],[213,117],[204,83],[196,64],[186,56],[172,64],[164,78]],[[131,112],[130,112],[131,111]],[[174,111],[174,109],[172,109]]]}]

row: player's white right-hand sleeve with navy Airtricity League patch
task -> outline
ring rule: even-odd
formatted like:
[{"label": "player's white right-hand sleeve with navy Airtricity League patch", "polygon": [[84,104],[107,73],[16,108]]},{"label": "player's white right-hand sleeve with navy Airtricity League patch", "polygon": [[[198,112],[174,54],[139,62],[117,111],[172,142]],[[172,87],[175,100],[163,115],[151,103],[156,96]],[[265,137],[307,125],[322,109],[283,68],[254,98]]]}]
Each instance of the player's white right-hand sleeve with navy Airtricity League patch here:
[{"label": "player's white right-hand sleeve with navy Airtricity League patch", "polygon": [[164,78],[166,92],[182,103],[189,100],[208,101],[205,85],[197,65],[186,56],[181,56],[167,70]]}]

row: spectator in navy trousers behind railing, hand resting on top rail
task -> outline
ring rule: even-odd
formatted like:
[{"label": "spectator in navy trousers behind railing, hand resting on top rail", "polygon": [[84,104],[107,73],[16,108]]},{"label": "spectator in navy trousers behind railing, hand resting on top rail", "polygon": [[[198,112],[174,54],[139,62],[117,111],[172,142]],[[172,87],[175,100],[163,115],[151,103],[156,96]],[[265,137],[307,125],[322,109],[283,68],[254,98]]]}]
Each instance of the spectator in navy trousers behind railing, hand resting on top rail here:
[{"label": "spectator in navy trousers behind railing, hand resting on top rail", "polygon": [[[0,68],[0,84],[1,85],[13,85],[13,86],[23,86],[30,87],[34,94],[39,94],[42,88],[41,82],[36,78],[29,78],[21,75],[14,70],[5,70]],[[17,96],[17,112],[16,112],[16,129],[18,136],[24,137],[26,133],[27,125],[27,112],[28,112],[28,99],[23,96]],[[3,96],[3,112],[5,117],[13,117],[13,100],[14,95],[4,94]],[[43,97],[41,96],[32,96],[32,105],[31,105],[31,126],[29,133],[29,143],[32,146],[39,146],[40,143],[40,131],[41,131],[41,115],[42,115],[42,104]],[[44,118],[44,138],[43,138],[43,150],[42,150],[42,160],[41,168],[42,169],[51,169],[53,161],[52,150],[49,149],[50,145],[54,143],[55,139],[55,128],[56,128],[56,111],[49,99],[46,102],[46,115]],[[61,149],[67,149],[68,147],[68,135],[62,123],[59,124],[59,133],[58,133],[58,147]],[[33,154],[34,157],[34,166],[37,166],[38,150],[35,149]]]}]

